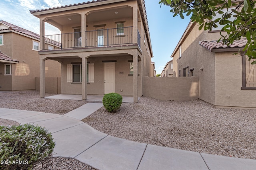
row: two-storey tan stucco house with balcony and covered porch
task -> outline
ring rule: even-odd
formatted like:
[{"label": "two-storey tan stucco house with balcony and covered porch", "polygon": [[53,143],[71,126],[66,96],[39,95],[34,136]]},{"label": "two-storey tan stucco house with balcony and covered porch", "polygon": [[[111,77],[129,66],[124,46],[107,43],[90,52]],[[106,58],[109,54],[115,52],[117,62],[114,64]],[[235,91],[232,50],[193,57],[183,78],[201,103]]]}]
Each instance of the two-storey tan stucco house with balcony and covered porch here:
[{"label": "two-storey tan stucco house with balcony and covered porch", "polygon": [[[45,10],[40,19],[40,97],[44,63],[61,63],[61,94],[142,96],[153,57],[144,0],[97,0]],[[60,29],[44,35],[45,22]],[[52,43],[54,42],[54,43]]]}]

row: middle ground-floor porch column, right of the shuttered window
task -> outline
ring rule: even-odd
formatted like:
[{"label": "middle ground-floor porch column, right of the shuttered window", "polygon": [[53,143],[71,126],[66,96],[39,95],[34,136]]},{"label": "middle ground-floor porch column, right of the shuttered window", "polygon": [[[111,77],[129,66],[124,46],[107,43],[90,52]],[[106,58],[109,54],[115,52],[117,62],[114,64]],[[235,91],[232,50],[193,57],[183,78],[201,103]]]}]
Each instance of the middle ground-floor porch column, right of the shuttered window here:
[{"label": "middle ground-floor porch column, right of the shuttered window", "polygon": [[87,99],[87,58],[82,57],[82,100]]}]

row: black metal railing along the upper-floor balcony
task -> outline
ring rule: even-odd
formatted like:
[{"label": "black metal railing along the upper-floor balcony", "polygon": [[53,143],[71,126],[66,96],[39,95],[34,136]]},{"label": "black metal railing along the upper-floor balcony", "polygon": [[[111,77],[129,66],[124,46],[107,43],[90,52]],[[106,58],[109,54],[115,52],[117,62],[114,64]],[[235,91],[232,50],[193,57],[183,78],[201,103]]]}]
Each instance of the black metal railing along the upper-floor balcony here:
[{"label": "black metal railing along the upper-floor balcony", "polygon": [[[135,43],[140,47],[139,31],[137,39],[138,41]],[[85,38],[82,37],[81,32],[45,35],[43,36],[43,50],[81,48],[82,41],[85,41],[86,48],[135,44],[133,42],[133,27],[131,26],[86,31]]]}]

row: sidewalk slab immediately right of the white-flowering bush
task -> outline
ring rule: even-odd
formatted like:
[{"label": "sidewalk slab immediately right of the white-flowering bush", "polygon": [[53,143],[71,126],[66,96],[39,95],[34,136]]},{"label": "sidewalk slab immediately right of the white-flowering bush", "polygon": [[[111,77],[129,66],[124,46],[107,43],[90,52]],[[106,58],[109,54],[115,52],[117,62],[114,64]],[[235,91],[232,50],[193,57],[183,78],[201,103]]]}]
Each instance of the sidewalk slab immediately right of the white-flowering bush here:
[{"label": "sidewalk slab immediately right of the white-flowering bush", "polygon": [[52,133],[52,136],[56,142],[54,156],[74,158],[107,135],[83,123]]}]

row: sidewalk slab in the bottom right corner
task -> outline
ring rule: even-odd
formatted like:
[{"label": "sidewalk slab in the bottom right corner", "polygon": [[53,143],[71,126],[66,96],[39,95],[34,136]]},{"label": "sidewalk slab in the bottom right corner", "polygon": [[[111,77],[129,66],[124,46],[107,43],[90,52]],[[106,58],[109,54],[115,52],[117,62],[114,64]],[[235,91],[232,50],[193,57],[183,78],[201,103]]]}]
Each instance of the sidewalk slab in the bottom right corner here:
[{"label": "sidewalk slab in the bottom right corner", "polygon": [[201,153],[210,170],[255,170],[256,160]]}]

